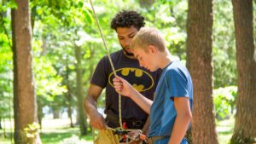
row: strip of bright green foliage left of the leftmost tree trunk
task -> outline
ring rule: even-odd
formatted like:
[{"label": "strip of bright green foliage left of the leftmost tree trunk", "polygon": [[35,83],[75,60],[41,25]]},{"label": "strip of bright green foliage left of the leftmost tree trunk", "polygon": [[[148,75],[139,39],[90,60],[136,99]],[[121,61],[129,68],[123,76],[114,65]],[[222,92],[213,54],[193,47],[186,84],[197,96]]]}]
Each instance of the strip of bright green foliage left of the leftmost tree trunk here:
[{"label": "strip of bright green foliage left of the leftmost tree trunk", "polygon": [[[11,3],[1,5],[0,14],[2,10],[11,7]],[[12,112],[12,69],[13,69],[13,55],[9,42],[9,17],[0,17],[0,118],[10,118],[13,116]],[[8,32],[6,32],[8,31]]]}]

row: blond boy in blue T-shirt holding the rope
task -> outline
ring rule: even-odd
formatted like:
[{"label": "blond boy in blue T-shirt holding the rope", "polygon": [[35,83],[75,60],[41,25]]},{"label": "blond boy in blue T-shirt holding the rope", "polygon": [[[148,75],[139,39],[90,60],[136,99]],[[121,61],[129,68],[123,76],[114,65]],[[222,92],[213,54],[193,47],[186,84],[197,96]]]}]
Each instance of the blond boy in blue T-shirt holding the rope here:
[{"label": "blond boy in blue T-shirt holding the rope", "polygon": [[114,78],[114,88],[150,113],[149,144],[187,144],[184,135],[192,118],[193,85],[189,71],[174,60],[164,37],[154,28],[142,28],[131,42],[140,65],[163,70],[154,102],[138,93],[124,78]]}]

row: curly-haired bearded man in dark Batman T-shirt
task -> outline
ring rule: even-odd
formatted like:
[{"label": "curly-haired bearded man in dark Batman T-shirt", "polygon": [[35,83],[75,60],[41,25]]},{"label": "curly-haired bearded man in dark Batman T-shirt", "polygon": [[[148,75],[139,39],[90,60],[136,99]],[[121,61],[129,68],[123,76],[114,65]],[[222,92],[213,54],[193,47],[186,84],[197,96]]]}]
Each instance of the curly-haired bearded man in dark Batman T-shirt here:
[{"label": "curly-haired bearded man in dark Batman T-shirt", "polygon": [[[117,32],[119,43],[123,49],[111,54],[113,66],[119,77],[125,78],[132,86],[145,95],[149,100],[153,100],[154,89],[160,71],[149,72],[139,66],[138,60],[131,52],[130,43],[139,29],[144,26],[144,18],[135,11],[121,11],[113,18],[111,28]],[[84,108],[90,118],[93,128],[100,130],[96,143],[108,144],[119,143],[119,136],[113,135],[113,131],[106,129],[119,128],[119,94],[113,89],[113,72],[108,57],[105,56],[99,61],[96,70],[90,81],[90,88],[84,101]],[[102,89],[106,88],[105,114],[102,117],[97,111],[96,101],[102,94]],[[144,130],[148,114],[137,106],[129,98],[121,99],[122,124],[127,129]]]}]

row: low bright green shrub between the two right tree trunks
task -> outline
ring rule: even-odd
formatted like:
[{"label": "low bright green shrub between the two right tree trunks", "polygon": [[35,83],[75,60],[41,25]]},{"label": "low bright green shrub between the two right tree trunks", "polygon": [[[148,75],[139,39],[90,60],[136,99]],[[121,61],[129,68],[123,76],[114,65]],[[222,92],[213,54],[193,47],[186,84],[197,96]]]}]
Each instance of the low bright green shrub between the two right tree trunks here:
[{"label": "low bright green shrub between the two right tree trunks", "polygon": [[230,118],[236,110],[237,87],[230,86],[213,90],[213,103],[218,120]]}]

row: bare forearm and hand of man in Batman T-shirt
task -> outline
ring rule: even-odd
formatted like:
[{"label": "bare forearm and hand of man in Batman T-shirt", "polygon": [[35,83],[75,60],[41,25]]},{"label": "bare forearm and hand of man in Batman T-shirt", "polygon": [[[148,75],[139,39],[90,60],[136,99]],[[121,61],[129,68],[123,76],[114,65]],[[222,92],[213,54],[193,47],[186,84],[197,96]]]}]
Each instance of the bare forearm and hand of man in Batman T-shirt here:
[{"label": "bare forearm and hand of man in Batman T-shirt", "polygon": [[[105,129],[104,118],[97,111],[97,100],[102,94],[102,88],[96,84],[90,84],[88,94],[84,99],[84,109],[90,118],[90,125],[98,130]],[[93,120],[92,120],[93,119]]]}]

